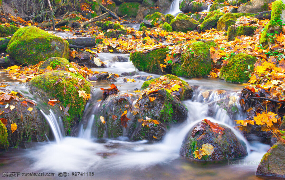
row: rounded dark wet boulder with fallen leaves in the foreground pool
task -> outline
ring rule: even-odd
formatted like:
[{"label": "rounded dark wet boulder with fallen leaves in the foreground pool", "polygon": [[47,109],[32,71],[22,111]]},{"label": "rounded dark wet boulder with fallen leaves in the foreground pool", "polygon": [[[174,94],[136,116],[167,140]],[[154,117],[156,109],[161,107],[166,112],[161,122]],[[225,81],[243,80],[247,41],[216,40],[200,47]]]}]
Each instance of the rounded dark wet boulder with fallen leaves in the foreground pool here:
[{"label": "rounded dark wet boulder with fallen leaves in the foreground pool", "polygon": [[[202,128],[204,126],[204,128]],[[221,126],[223,134],[214,133],[208,124],[199,122],[194,126],[185,137],[180,148],[180,155],[189,159],[194,159],[194,152],[202,148],[203,144],[211,144],[214,151],[211,155],[202,155],[201,159],[196,158],[196,161],[214,161],[237,159],[247,156],[245,144],[242,143],[230,128]],[[199,128],[200,127],[200,128]],[[196,128],[196,129],[195,129]],[[198,130],[201,129],[201,130]],[[205,134],[200,140],[200,136]]]}]

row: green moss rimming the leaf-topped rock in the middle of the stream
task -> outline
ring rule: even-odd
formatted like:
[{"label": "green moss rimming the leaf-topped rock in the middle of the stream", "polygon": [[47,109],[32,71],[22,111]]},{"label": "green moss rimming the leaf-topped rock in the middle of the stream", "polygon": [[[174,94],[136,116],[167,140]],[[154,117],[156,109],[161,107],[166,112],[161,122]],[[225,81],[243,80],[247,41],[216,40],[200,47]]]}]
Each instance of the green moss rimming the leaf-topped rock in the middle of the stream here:
[{"label": "green moss rimming the leaf-topped rock in the middle of the stream", "polygon": [[[173,80],[175,80],[175,81],[181,81],[183,87],[182,87],[182,91],[180,92],[180,100],[183,100],[183,99],[184,99],[185,93],[187,94],[188,91],[189,91],[189,89],[190,89],[190,91],[192,91],[192,89],[191,89],[191,87],[189,86],[189,84],[188,84],[186,81],[184,81],[184,80],[178,78],[177,76],[175,76],[175,75],[170,75],[170,74],[166,74],[166,75],[164,75],[164,76],[167,77],[168,79],[173,79]],[[143,85],[141,86],[141,89],[146,89],[146,88],[148,88],[151,82],[156,81],[156,80],[159,79],[159,78],[160,78],[160,77],[158,77],[158,78],[156,78],[156,79],[150,79],[150,80],[148,80],[148,81],[144,81]],[[168,94],[168,93],[166,93],[166,94]],[[169,95],[170,95],[170,94],[169,94]],[[171,99],[171,98],[172,98],[172,97],[169,97],[169,99]],[[168,99],[168,100],[169,100],[169,99]]]}]

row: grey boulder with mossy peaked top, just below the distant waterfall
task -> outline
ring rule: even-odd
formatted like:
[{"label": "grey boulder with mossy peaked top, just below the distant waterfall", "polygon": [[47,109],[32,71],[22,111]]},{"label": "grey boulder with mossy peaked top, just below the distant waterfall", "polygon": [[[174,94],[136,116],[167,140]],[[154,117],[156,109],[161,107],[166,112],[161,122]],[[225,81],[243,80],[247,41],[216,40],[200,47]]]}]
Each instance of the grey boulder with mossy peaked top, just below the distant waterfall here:
[{"label": "grey boulder with mossy peaked top, just below the distant waterfall", "polygon": [[187,32],[192,31],[197,28],[200,22],[195,21],[191,17],[179,13],[172,21],[170,22],[170,26],[172,26],[172,30]]}]

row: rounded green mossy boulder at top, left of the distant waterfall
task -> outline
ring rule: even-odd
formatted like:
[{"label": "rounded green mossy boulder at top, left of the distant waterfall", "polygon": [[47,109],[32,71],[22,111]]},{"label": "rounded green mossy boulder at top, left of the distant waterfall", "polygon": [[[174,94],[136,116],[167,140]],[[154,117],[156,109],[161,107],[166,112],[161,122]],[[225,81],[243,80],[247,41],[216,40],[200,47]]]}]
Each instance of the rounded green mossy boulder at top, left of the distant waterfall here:
[{"label": "rounded green mossy boulder at top, left of the distant waterfall", "polygon": [[140,3],[130,2],[130,3],[122,3],[118,6],[117,15],[128,17],[136,17],[138,15]]}]

